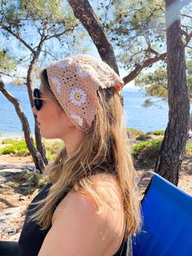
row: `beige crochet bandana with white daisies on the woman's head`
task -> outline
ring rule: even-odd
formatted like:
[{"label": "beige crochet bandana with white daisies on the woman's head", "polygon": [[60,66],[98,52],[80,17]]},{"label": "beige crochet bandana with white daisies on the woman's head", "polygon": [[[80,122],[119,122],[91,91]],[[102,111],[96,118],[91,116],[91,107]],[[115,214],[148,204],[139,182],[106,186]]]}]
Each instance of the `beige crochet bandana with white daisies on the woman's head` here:
[{"label": "beige crochet bandana with white daisies on the woman's head", "polygon": [[102,60],[76,55],[51,64],[47,70],[50,88],[73,124],[87,131],[97,112],[99,87],[124,86],[123,80]]}]

